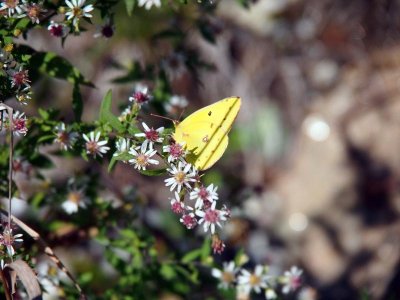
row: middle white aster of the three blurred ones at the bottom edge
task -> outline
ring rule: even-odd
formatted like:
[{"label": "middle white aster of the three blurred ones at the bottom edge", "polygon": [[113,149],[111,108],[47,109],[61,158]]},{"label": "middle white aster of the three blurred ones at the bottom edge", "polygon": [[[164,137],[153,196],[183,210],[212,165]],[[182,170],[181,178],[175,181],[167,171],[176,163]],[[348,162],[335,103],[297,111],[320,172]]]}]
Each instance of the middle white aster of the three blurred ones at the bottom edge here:
[{"label": "middle white aster of the three blurred ones at the bottom edge", "polygon": [[243,287],[243,290],[248,294],[253,290],[256,293],[261,293],[261,289],[268,287],[269,276],[265,274],[265,268],[257,265],[253,273],[242,269],[238,277],[238,284]]}]

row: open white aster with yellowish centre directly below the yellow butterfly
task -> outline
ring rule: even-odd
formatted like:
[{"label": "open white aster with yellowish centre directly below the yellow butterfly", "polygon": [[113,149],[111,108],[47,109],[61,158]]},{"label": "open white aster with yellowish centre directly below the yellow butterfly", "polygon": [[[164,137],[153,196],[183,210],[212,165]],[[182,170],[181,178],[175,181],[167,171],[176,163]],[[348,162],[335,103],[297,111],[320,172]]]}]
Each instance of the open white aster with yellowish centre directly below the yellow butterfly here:
[{"label": "open white aster with yellowish centre directly below the yellow butterfly", "polygon": [[195,177],[197,176],[197,172],[191,164],[185,164],[180,161],[178,166],[171,165],[171,168],[167,169],[167,171],[172,177],[164,181],[166,186],[170,186],[171,191],[177,188],[178,193],[180,193],[183,186],[190,189],[190,182],[196,181]]}]

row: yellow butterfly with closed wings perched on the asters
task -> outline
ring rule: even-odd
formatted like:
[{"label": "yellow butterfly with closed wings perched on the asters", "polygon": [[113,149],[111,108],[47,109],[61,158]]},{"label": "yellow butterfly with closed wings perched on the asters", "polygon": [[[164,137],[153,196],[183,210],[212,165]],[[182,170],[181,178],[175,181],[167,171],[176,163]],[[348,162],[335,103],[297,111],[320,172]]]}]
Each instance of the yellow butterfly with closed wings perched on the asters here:
[{"label": "yellow butterfly with closed wings perched on the asters", "polygon": [[195,111],[175,125],[173,138],[192,151],[188,161],[198,170],[215,164],[228,147],[228,133],[241,105],[240,97],[229,97]]}]

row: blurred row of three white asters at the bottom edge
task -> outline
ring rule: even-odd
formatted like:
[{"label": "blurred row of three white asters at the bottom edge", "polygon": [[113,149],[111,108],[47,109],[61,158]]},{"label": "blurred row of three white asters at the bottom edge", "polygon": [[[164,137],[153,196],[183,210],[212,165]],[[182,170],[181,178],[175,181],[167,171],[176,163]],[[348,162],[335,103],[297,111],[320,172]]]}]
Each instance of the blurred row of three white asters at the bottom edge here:
[{"label": "blurred row of three white asters at the bottom edge", "polygon": [[231,261],[224,263],[222,269],[212,269],[211,274],[219,280],[219,288],[236,288],[237,299],[250,299],[252,292],[264,294],[267,300],[278,299],[279,293],[289,294],[301,286],[303,270],[296,266],[282,276],[274,276],[268,271],[268,266],[263,265],[256,265],[249,271]]}]

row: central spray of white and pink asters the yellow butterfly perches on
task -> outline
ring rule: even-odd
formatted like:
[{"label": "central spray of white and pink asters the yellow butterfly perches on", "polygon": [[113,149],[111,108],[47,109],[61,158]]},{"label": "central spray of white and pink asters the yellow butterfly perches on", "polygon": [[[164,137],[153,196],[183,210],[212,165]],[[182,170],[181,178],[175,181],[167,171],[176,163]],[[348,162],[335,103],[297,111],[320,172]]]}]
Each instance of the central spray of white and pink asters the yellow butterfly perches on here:
[{"label": "central spray of white and pink asters the yellow butterfly perches on", "polygon": [[[126,121],[131,114],[152,99],[147,86],[137,85],[129,98],[132,106],[120,116],[120,121]],[[186,99],[171,97],[171,105],[186,105]],[[171,210],[179,215],[180,222],[187,228],[202,226],[204,232],[212,236],[214,252],[221,253],[225,245],[219,239],[217,228],[222,227],[229,219],[230,211],[225,205],[217,208],[219,196],[218,187],[214,184],[205,186],[194,165],[186,160],[189,151],[184,144],[179,144],[166,138],[164,127],[153,128],[141,123],[143,132],[134,134],[133,138],[119,137],[115,142],[113,156],[124,163],[129,163],[139,171],[146,171],[163,161],[169,178],[165,186],[174,193],[170,198]]]}]

